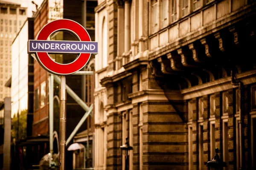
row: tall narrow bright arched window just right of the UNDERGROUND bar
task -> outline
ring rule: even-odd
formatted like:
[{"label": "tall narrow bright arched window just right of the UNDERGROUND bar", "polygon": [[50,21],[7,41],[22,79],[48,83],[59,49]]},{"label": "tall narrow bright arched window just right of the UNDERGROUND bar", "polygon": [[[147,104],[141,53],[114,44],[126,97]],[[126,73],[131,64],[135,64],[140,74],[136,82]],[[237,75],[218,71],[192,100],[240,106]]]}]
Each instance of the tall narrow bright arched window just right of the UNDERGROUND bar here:
[{"label": "tall narrow bright arched window just right of the UNDERGROUND bar", "polygon": [[108,65],[108,28],[105,17],[102,21],[102,68]]}]

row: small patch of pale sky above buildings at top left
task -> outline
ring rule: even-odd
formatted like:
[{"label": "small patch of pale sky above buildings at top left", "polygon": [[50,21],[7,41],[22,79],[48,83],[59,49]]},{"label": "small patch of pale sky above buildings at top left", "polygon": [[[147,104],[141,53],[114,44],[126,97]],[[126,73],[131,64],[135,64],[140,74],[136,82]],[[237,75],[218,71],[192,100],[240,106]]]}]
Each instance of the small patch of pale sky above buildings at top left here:
[{"label": "small patch of pale sky above buildings at top left", "polygon": [[[27,7],[28,8],[28,17],[32,17],[32,11],[36,11],[35,5],[32,4],[32,0],[5,0],[13,3],[19,3],[22,7]],[[38,8],[40,7],[41,3],[43,0],[33,0],[37,5]]]}]

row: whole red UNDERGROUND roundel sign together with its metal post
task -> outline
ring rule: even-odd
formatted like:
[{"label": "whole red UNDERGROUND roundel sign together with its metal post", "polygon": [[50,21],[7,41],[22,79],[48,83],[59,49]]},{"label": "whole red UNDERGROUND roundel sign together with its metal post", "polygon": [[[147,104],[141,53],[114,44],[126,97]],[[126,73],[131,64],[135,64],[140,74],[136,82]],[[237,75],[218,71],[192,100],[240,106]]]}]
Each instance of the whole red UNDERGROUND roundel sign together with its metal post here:
[{"label": "whole red UNDERGROUND roundel sign together with its metal post", "polygon": [[[69,31],[79,41],[47,40],[57,31]],[[73,20],[61,19],[47,23],[38,33],[35,40],[28,41],[28,53],[35,53],[38,63],[49,73],[61,76],[60,88],[60,170],[65,170],[66,156],[66,76],[75,74],[84,68],[91,54],[98,53],[98,43],[92,42],[90,35],[79,23]],[[51,59],[48,53],[78,54],[75,61],[60,64]],[[53,82],[51,82],[53,83]]]}]

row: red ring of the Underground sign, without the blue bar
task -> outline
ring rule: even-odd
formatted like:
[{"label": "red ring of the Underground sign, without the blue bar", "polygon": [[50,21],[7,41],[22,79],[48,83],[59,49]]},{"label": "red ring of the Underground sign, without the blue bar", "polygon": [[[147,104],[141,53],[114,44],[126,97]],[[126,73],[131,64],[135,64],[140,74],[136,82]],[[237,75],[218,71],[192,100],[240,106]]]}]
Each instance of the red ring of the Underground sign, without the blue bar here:
[{"label": "red ring of the Underground sign, without the blue bar", "polygon": [[[48,23],[39,31],[35,40],[47,40],[48,37],[56,31],[69,31],[75,34],[80,41],[91,41],[88,32],[83,26],[68,19],[54,20]],[[81,53],[75,61],[68,64],[60,64],[53,61],[47,52],[36,52],[36,54],[39,64],[48,72],[57,75],[76,73],[87,64],[91,56],[91,54]]]}]

